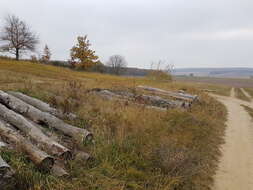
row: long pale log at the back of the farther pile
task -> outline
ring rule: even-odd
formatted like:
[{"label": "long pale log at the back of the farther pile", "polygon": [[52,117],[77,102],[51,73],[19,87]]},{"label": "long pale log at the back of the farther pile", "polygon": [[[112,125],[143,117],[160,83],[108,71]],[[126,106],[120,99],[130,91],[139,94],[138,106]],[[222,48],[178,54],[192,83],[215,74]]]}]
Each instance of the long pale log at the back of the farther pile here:
[{"label": "long pale log at the back of the farther pile", "polygon": [[175,99],[184,100],[184,101],[195,101],[198,98],[197,95],[191,95],[191,94],[186,94],[186,93],[182,93],[182,92],[176,93],[176,92],[171,92],[171,91],[162,90],[159,88],[153,88],[153,87],[149,87],[149,86],[138,86],[137,88],[151,91],[151,92],[156,92],[156,93],[159,93],[162,95],[167,95],[167,96],[173,97]]}]

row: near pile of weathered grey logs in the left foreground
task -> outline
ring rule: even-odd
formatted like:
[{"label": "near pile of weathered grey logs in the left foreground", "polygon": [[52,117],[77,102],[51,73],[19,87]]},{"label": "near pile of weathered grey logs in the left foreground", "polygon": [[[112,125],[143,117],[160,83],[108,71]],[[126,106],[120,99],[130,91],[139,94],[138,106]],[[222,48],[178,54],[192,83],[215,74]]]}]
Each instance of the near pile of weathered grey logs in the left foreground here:
[{"label": "near pile of weathered grey logs in the left foreground", "polygon": [[[67,175],[65,160],[76,156],[87,161],[90,156],[86,152],[71,151],[67,145],[61,144],[56,134],[67,136],[75,142],[92,141],[93,135],[84,128],[65,123],[62,119],[66,117],[73,119],[76,116],[65,114],[20,92],[0,90],[0,151],[3,146],[19,147],[39,169],[57,176]],[[0,186],[13,173],[0,156]]]}]

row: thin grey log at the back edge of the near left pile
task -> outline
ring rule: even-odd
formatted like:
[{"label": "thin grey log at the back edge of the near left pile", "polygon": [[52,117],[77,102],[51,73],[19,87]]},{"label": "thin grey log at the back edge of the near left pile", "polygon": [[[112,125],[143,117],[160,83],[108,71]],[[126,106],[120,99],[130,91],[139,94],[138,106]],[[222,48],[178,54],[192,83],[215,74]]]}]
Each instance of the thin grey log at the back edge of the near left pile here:
[{"label": "thin grey log at the back edge of the near left pile", "polygon": [[43,112],[48,112],[56,117],[59,117],[62,119],[64,119],[64,118],[68,118],[68,119],[77,118],[77,116],[73,113],[63,113],[61,110],[57,110],[55,108],[52,108],[49,104],[47,104],[41,100],[38,100],[36,98],[27,96],[21,92],[10,91],[10,92],[8,92],[8,94],[11,94],[11,95],[15,96],[16,98],[19,98],[20,100],[23,100],[24,102],[34,106],[35,108],[37,108]]}]

